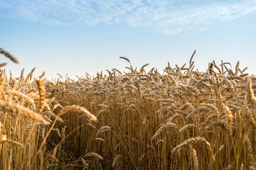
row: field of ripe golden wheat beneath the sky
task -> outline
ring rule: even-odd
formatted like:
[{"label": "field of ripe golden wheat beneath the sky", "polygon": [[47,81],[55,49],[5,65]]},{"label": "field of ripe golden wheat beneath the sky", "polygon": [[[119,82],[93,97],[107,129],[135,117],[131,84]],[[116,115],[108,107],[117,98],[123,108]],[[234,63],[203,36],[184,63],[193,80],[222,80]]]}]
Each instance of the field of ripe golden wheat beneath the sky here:
[{"label": "field of ripe golden wheat beneath the sky", "polygon": [[255,170],[256,77],[194,54],[164,74],[125,57],[77,80],[0,69],[0,170]]}]

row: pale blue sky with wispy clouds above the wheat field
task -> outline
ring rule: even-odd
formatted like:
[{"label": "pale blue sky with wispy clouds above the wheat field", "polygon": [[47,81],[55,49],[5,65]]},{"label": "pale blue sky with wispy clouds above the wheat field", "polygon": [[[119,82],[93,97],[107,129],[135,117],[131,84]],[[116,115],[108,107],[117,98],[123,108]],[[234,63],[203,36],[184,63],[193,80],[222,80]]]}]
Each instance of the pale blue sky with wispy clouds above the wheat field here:
[{"label": "pale blue sky with wispy clouds above the wheat field", "polygon": [[15,77],[34,67],[34,76],[45,71],[48,79],[128,71],[121,56],[163,73],[167,62],[182,66],[195,50],[199,71],[213,59],[234,67],[239,60],[256,74],[255,0],[1,0],[0,23],[0,48],[20,64],[3,55],[0,62]]}]

